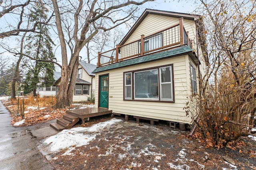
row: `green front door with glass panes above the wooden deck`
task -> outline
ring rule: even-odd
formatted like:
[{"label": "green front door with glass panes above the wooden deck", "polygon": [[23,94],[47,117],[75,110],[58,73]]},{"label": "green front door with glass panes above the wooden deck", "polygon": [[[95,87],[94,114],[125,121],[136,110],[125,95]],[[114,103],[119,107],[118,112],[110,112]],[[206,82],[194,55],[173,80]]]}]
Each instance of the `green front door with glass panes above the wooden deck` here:
[{"label": "green front door with glass panes above the wooden deck", "polygon": [[108,75],[100,76],[100,107],[108,108]]}]

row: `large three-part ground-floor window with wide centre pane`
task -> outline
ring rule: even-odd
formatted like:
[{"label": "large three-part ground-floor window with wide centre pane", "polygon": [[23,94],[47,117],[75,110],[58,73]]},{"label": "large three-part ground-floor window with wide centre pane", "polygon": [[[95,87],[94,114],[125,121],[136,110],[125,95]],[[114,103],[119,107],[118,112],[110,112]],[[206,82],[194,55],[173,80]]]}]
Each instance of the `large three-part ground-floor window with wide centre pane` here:
[{"label": "large three-part ground-floor window with wide centre pane", "polygon": [[173,102],[172,66],[124,73],[124,99]]}]

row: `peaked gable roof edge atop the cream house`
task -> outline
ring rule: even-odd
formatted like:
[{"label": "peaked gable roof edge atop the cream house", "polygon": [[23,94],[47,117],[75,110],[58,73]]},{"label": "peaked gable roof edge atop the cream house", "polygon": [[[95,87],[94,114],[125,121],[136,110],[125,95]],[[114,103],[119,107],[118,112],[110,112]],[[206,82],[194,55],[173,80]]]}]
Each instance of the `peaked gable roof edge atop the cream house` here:
[{"label": "peaked gable roof edge atop the cream house", "polygon": [[169,12],[169,11],[162,11],[162,10],[151,10],[146,9],[140,18],[136,21],[136,23],[132,26],[132,28],[128,31],[128,33],[124,36],[122,41],[119,43],[119,45],[124,45],[124,43],[127,41],[127,39],[132,35],[132,33],[136,30],[136,28],[140,25],[140,23],[146,18],[148,14],[154,14],[154,15],[160,15],[160,16],[169,16],[174,18],[184,18],[186,20],[198,20],[199,15],[194,14],[186,14],[186,13],[180,13],[180,12]]}]

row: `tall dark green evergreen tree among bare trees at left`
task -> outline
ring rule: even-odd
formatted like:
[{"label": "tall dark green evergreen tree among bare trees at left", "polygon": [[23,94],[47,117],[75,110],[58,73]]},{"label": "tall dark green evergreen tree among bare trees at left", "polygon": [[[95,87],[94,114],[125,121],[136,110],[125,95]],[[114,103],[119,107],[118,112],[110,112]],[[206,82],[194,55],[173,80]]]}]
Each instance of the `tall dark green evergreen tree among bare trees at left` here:
[{"label": "tall dark green evergreen tree among bare trees at left", "polygon": [[[47,20],[47,12],[48,9],[45,8],[44,4],[37,3],[31,10],[30,20],[43,23]],[[30,33],[25,46],[26,55],[33,56],[35,61],[30,61],[30,64],[28,64],[29,61],[25,63],[29,70],[26,74],[24,90],[32,89],[34,95],[40,82],[42,82],[40,86],[52,86],[54,83],[54,64],[47,62],[54,58],[52,52],[54,43],[50,38],[47,25],[38,24],[37,30],[40,33]]]}]

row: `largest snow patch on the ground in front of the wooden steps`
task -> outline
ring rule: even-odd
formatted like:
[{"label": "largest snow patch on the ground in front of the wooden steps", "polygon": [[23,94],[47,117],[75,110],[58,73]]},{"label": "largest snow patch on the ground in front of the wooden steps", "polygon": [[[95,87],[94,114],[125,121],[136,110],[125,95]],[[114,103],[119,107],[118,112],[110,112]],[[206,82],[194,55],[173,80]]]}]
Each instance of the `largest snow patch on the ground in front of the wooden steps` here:
[{"label": "largest snow patch on the ground in front of the wooden steps", "polygon": [[[75,147],[81,147],[88,145],[90,141],[94,140],[97,132],[101,131],[105,127],[108,127],[114,123],[120,122],[120,119],[111,119],[110,121],[100,122],[91,127],[76,127],[72,129],[63,130],[56,135],[47,138],[42,145],[48,145],[50,152],[58,152],[61,149],[70,148],[66,154],[68,154]],[[85,132],[90,132],[85,134]],[[72,148],[71,148],[72,146]]]}]

